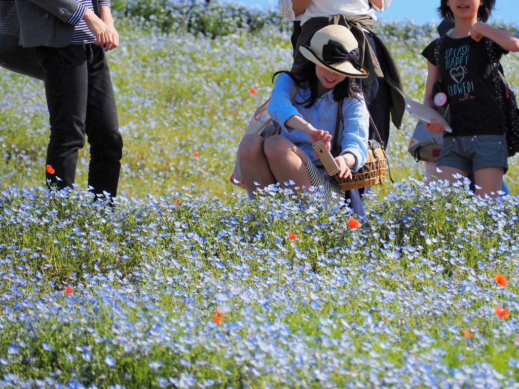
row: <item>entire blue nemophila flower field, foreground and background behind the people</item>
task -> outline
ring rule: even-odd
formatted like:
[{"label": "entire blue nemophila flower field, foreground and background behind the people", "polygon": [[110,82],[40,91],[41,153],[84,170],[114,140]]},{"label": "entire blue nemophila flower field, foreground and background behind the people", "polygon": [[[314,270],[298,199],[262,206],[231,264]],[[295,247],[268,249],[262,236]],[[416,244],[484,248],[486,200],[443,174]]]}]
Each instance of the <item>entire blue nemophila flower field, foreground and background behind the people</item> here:
[{"label": "entire blue nemophila flower field, foreground and background behind the people", "polygon": [[[125,138],[113,207],[85,191],[88,150],[76,190],[43,188],[43,85],[0,73],[0,388],[519,387],[515,157],[513,197],[424,188],[406,117],[389,145],[396,183],[365,218],[318,189],[251,203],[228,178],[290,66],[289,25],[148,24],[119,19],[109,54]],[[379,25],[415,100],[434,28]],[[517,63],[503,60],[515,87]]]}]

